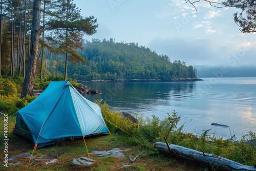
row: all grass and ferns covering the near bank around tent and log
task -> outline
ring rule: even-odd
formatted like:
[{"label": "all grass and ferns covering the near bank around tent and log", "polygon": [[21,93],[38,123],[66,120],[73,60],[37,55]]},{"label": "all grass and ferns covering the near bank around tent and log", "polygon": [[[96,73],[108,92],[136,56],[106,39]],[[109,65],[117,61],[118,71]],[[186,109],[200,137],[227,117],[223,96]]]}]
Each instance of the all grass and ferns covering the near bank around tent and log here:
[{"label": "all grass and ferns covering the near bank around tent and log", "polygon": [[[108,118],[112,124],[113,135],[101,136],[86,139],[86,144],[89,153],[92,151],[109,151],[112,148],[126,149],[124,151],[125,158],[97,158],[98,155],[90,155],[91,159],[96,160],[91,166],[73,166],[71,165],[72,159],[76,157],[88,157],[86,147],[83,140],[76,141],[63,141],[47,147],[36,149],[33,155],[42,157],[48,160],[57,158],[59,161],[51,165],[45,165],[45,161],[30,162],[29,159],[17,159],[10,162],[23,162],[24,164],[18,166],[5,167],[3,162],[0,165],[1,170],[117,170],[123,165],[131,165],[127,168],[118,170],[210,170],[202,165],[195,164],[188,160],[181,160],[169,156],[159,154],[154,149],[154,142],[157,140],[163,140],[163,134],[167,134],[169,130],[166,129],[166,125],[172,122],[171,118],[167,121],[160,121],[158,118],[152,120],[143,120],[139,118],[139,123],[131,123],[129,120],[123,120],[119,118],[118,113],[110,112],[108,106],[103,104],[101,106],[102,113],[105,118]],[[111,114],[110,114],[111,113]],[[169,115],[172,117],[171,115]],[[15,156],[23,153],[32,153],[33,144],[25,138],[19,137],[11,133],[11,129],[15,124],[15,116],[10,117],[8,120],[8,156]],[[175,117],[172,117],[175,118]],[[0,119],[3,120],[4,116],[1,115]],[[178,119],[176,117],[176,119]],[[122,123],[122,121],[125,123]],[[164,123],[163,123],[164,122]],[[142,124],[143,123],[143,124]],[[177,122],[176,122],[177,123]],[[0,130],[0,138],[4,139],[4,123],[0,124],[2,129]],[[175,127],[175,126],[172,126]],[[162,130],[162,131],[161,131]],[[200,151],[200,148],[205,153],[218,154],[226,158],[233,159],[240,163],[249,165],[255,162],[255,144],[248,145],[246,143],[231,142],[222,139],[215,139],[215,143],[209,143],[207,141],[208,132],[206,131],[201,137],[196,137],[192,134],[183,134],[179,132],[179,129],[171,130],[168,141],[177,145],[183,145],[186,147],[194,148]],[[137,135],[135,135],[137,134]],[[251,136],[254,136],[251,133]],[[155,136],[155,138],[153,138]],[[150,138],[146,138],[150,137]],[[4,156],[4,146],[1,144],[2,156]],[[254,155],[254,156],[253,156]],[[136,158],[134,163],[130,162],[131,158]],[[248,160],[250,158],[250,160]],[[3,160],[3,158],[2,158]],[[251,164],[252,165],[252,164]]]}]

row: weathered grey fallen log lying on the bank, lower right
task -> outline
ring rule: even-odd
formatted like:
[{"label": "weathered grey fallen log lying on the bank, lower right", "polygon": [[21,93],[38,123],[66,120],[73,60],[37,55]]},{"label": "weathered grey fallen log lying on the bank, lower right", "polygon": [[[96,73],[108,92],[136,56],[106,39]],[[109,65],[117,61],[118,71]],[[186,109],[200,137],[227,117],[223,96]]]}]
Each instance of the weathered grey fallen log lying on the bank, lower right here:
[{"label": "weathered grey fallen log lying on the bank, lower right", "polygon": [[169,147],[171,151],[169,151],[166,143],[155,143],[155,148],[157,148],[160,153],[177,156],[182,159],[193,160],[205,166],[213,167],[215,170],[256,170],[254,166],[246,166],[220,156],[198,152],[194,149],[183,146],[169,144]]}]

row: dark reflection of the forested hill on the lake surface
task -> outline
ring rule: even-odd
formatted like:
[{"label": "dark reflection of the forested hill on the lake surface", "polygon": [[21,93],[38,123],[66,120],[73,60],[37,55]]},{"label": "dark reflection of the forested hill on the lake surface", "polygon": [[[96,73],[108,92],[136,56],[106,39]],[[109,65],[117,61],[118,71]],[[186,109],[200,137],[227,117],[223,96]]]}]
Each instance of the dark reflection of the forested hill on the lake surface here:
[{"label": "dark reflection of the forested hill on the lake surface", "polygon": [[82,82],[101,94],[86,96],[89,100],[103,99],[116,108],[150,108],[170,105],[172,100],[193,98],[194,82]]}]

